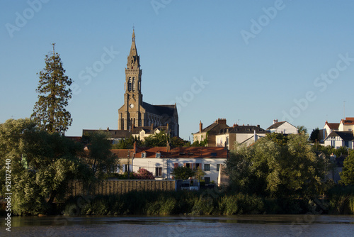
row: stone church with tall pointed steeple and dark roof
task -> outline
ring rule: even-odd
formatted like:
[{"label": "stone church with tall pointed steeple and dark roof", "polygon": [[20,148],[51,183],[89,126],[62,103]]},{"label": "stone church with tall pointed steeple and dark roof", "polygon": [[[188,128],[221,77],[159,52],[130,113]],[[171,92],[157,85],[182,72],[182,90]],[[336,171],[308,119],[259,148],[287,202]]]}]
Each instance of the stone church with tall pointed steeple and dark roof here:
[{"label": "stone church with tall pointed steeple and dark roof", "polygon": [[[132,33],[132,46],[125,68],[124,104],[118,109],[118,130],[107,131],[112,138],[127,138],[139,134],[154,134],[165,131],[171,137],[179,136],[178,113],[176,104],[153,105],[142,99],[142,69],[140,68],[135,31]],[[84,130],[91,133],[94,130]]]}]

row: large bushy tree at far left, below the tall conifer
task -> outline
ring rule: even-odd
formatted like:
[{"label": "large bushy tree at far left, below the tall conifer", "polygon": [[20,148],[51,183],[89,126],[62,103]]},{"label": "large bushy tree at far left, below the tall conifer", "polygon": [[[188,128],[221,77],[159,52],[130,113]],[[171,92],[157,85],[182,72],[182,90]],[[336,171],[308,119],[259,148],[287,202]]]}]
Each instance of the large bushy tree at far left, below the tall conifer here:
[{"label": "large bushy tree at far left, below the tall conifer", "polygon": [[[59,133],[47,133],[29,118],[0,124],[0,167],[11,160],[11,191],[15,214],[45,213],[55,198],[63,197],[67,182],[81,178],[81,144]],[[5,182],[3,182],[5,183]],[[1,189],[1,194],[6,193]]]}]

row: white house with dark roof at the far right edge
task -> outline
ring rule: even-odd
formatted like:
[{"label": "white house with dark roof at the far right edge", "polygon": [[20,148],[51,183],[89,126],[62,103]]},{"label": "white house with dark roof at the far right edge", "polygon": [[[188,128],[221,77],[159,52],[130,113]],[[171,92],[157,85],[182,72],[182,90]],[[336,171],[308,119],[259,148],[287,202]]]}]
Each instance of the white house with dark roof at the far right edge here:
[{"label": "white house with dark roof at the far right edge", "polygon": [[353,149],[353,139],[352,131],[332,131],[329,136],[324,139],[324,145],[331,145],[332,148],[345,146]]}]

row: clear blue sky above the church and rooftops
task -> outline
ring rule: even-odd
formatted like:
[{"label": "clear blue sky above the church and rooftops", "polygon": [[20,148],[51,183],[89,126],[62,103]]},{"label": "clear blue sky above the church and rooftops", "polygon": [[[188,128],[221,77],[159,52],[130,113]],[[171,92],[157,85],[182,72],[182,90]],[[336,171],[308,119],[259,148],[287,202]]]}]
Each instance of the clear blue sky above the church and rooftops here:
[{"label": "clear blue sky above the church and rooftops", "polygon": [[353,9],[349,0],[2,0],[0,123],[32,114],[56,43],[75,85],[67,136],[117,129],[134,25],[143,99],[178,103],[182,138],[217,118],[311,132],[339,122],[344,104],[354,116]]}]

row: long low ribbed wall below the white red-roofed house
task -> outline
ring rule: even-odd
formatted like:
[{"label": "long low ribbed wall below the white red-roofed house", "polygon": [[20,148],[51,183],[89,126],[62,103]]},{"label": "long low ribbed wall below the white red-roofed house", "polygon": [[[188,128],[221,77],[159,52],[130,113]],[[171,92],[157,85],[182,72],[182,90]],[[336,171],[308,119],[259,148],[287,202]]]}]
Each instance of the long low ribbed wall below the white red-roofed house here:
[{"label": "long low ribbed wall below the white red-roofed house", "polygon": [[[72,180],[68,196],[86,195],[81,180]],[[174,191],[176,180],[102,180],[91,188],[90,195],[124,194],[131,191]]]}]

